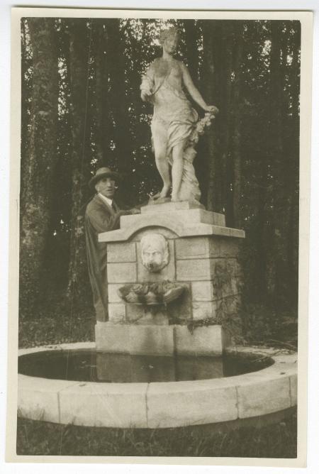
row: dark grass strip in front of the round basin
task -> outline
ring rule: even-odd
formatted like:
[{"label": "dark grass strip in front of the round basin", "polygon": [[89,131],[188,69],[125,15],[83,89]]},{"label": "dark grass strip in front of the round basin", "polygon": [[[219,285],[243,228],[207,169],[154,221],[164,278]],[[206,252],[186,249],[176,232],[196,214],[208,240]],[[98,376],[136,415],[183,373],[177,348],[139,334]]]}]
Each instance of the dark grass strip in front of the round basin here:
[{"label": "dark grass strip in front of the round basin", "polygon": [[17,454],[296,458],[296,413],[259,429],[112,429],[18,419]]}]

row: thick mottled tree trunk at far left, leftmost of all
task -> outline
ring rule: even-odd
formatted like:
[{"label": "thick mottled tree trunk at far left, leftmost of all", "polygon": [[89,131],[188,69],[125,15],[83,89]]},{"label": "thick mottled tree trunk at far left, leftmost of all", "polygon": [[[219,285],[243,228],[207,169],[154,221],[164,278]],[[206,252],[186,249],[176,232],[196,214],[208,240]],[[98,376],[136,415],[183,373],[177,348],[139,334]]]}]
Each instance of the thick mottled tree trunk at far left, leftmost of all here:
[{"label": "thick mottled tree trunk at far left, leftmost of all", "polygon": [[33,50],[30,139],[21,176],[20,308],[35,311],[50,223],[52,175],[57,161],[57,48],[54,19],[29,18]]}]

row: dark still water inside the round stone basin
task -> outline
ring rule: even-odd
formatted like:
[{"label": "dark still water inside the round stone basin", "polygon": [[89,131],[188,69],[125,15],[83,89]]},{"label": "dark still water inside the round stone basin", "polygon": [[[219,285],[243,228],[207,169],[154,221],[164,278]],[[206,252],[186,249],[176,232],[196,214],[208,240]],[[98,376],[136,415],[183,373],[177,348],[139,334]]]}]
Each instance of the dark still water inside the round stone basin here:
[{"label": "dark still water inside the round stone basin", "polygon": [[91,382],[172,382],[230,377],[272,365],[252,354],[223,357],[150,356],[96,351],[45,351],[21,355],[18,372],[33,377]]}]

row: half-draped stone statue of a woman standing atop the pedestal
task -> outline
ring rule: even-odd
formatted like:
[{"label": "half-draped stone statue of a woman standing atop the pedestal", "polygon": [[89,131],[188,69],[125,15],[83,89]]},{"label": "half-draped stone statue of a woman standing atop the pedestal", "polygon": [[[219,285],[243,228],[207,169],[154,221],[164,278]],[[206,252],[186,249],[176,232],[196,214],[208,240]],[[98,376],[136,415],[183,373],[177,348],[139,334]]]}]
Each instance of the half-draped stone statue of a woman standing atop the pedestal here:
[{"label": "half-draped stone statue of a woman standing atop the pedestal", "polygon": [[183,87],[204,111],[211,116],[218,113],[215,106],[207,105],[203,100],[186,65],[174,59],[178,40],[176,28],[162,31],[159,37],[163,48],[162,57],[152,62],[140,86],[142,101],[150,101],[154,105],[152,141],[157,170],[163,180],[162,191],[156,197],[169,195],[169,165],[172,165],[172,201],[184,199],[180,195],[184,150],[198,120],[198,114],[186,98]]}]

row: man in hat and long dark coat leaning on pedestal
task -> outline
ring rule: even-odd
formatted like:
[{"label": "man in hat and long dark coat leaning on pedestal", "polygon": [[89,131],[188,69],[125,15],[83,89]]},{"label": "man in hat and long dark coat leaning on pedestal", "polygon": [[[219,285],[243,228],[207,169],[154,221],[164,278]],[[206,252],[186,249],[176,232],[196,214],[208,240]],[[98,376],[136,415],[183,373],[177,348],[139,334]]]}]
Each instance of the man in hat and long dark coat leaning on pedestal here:
[{"label": "man in hat and long dark coat leaning on pedestal", "polygon": [[114,202],[118,173],[108,167],[99,168],[89,181],[89,187],[96,195],[86,206],[85,236],[89,278],[93,292],[96,319],[108,319],[106,243],[99,242],[101,232],[113,231],[120,227],[120,217],[125,214],[139,214],[139,209],[121,211]]}]

